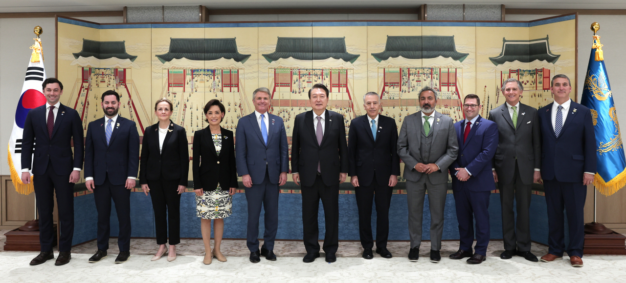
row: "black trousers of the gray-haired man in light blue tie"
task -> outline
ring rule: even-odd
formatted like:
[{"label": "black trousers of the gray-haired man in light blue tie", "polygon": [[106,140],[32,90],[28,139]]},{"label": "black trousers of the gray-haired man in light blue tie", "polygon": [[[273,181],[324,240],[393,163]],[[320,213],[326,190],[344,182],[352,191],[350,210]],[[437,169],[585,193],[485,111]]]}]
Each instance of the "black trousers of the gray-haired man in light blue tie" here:
[{"label": "black trousers of the gray-haired man in light blue tie", "polygon": [[393,187],[380,186],[376,176],[369,186],[358,186],[356,206],[359,209],[359,236],[364,249],[374,247],[372,237],[372,202],[376,202],[376,247],[387,247],[389,237],[389,206]]}]

